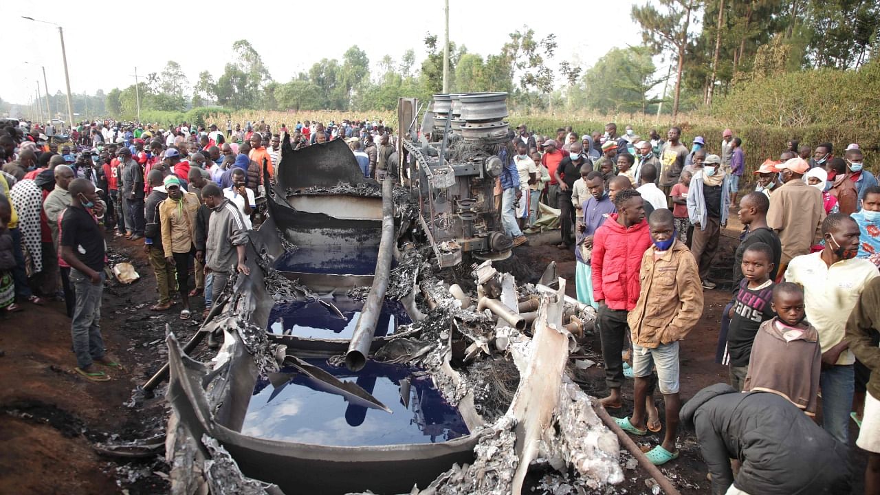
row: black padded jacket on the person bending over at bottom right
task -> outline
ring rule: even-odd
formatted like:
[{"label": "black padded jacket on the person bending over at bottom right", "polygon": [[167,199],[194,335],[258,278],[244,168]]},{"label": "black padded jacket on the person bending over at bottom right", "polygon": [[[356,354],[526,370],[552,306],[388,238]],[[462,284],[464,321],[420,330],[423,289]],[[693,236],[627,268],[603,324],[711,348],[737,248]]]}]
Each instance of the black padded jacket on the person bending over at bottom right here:
[{"label": "black padded jacket on the person bending over at bottom right", "polygon": [[[712,474],[712,493],[736,484],[753,495],[849,493],[847,447],[779,395],[703,388],[681,409]],[[730,459],[741,463],[734,482]]]}]

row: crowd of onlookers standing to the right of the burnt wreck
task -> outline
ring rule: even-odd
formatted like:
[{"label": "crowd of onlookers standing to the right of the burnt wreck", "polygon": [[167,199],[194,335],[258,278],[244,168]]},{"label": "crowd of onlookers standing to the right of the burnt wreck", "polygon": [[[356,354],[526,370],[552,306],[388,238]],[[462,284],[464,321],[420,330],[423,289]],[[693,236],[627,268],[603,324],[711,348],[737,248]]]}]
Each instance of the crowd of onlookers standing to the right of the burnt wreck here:
[{"label": "crowd of onlookers standing to the right of the burnt wreck", "polygon": [[[634,379],[632,415],[616,421],[643,436],[663,429],[651,395],[658,388],[664,397],[665,432],[651,462],[678,457],[681,419],[697,428],[714,493],[839,492],[854,421],[856,444],[869,452],[866,493],[880,490],[880,187],[858,144],[835,157],[829,143],[789,142],[741,195],[745,155],[731,129],[717,144],[693,137],[690,148],[676,127],[665,140],[654,129],[642,139],[631,126],[621,136],[613,122],[580,137],[570,128],[555,138],[517,131],[519,181],[500,181],[505,228],[515,240],[523,233],[514,227],[532,233],[539,202],[559,212],[558,247],[575,250],[577,298],[598,310],[610,390],[600,402],[620,409],[621,388]],[[528,198],[525,211],[517,198]],[[703,315],[703,291],[717,287],[710,272],[733,214],[744,230],[717,351],[730,385],[682,411],[679,345]],[[756,399],[752,420],[796,412],[804,434],[762,429],[763,450],[744,443],[748,418],[734,425],[730,410],[715,412],[744,400],[722,399],[733,391],[780,397]],[[810,419],[819,403],[821,428]],[[773,463],[774,476],[762,477],[760,456],[774,447],[812,464]]]}]

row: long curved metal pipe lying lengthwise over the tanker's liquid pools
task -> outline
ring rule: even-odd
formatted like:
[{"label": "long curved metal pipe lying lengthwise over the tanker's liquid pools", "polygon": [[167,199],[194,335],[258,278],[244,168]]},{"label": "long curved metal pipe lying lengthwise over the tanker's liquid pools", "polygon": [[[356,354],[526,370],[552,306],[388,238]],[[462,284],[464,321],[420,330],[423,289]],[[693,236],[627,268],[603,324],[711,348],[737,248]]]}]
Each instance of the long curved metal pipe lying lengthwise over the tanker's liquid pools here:
[{"label": "long curved metal pipe lying lengthwise over the tanker's liquid pools", "polygon": [[391,272],[391,260],[394,255],[394,199],[392,193],[394,182],[386,179],[382,182],[382,239],[379,241],[379,255],[376,271],[373,275],[373,286],[367,300],[363,302],[361,316],[357,319],[355,333],[348,344],[345,354],[345,366],[351,371],[360,371],[367,364],[370,355],[370,344],[376,332],[376,323],[382,313],[385,291],[388,290],[388,278]]}]

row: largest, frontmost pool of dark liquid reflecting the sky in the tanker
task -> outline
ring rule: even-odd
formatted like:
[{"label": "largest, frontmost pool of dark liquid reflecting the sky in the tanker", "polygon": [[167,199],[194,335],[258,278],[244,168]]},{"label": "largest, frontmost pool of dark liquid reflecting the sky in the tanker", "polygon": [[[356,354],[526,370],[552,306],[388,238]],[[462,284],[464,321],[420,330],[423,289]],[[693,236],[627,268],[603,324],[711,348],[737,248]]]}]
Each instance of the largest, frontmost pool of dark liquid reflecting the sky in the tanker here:
[{"label": "largest, frontmost pool of dark liquid reflecting the sky in the tanker", "polygon": [[[438,443],[469,434],[458,410],[446,403],[429,375],[417,368],[369,361],[354,373],[344,366],[329,366],[324,359],[308,362],[341,380],[356,380],[393,413],[368,410],[349,404],[341,395],[320,392],[311,388],[312,379],[295,368],[285,368],[282,372],[297,374],[281,387],[273,388],[266,379],[257,382],[242,433],[338,447]],[[411,386],[407,387],[407,381]],[[401,390],[408,397],[408,407]]]}]

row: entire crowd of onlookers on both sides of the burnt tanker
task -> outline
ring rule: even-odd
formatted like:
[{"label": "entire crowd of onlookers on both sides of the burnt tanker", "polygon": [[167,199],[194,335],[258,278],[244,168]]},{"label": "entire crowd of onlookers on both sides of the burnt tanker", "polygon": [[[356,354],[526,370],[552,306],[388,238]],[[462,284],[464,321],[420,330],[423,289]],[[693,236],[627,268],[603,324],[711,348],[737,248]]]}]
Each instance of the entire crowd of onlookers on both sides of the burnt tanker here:
[{"label": "entire crowd of onlookers on both sides of the burnt tanker", "polygon": [[[39,129],[0,129],[0,310],[64,299],[77,373],[109,380],[121,365],[100,336],[104,232],[143,242],[158,284],[150,310],[170,310],[179,298],[187,320],[191,298],[203,297],[207,313],[233,273],[247,273],[246,233],[260,221],[262,171],[274,179],[282,136],[290,134],[294,149],[344,139],[363,174],[378,180],[397,160],[382,122],[277,130],[265,122],[227,121],[225,129],[83,122],[71,129],[83,148],[76,153]],[[516,153],[495,186],[504,230],[520,246],[537,230],[539,203],[558,211],[557,247],[576,255],[577,298],[598,311],[609,388],[600,402],[620,410],[621,389],[634,380],[633,412],[617,423],[638,436],[664,430],[650,462],[678,457],[683,421],[696,428],[715,493],[833,492],[847,473],[854,420],[856,444],[869,452],[866,491],[876,493],[880,187],[862,151],[850,144],[835,157],[832,144],[789,142],[754,173],[757,188],[740,194],[745,155],[732,130],[716,143],[693,137],[690,148],[682,139],[676,127],[665,139],[654,129],[639,137],[631,126],[619,135],[613,122],[604,134],[581,136],[517,127]],[[717,351],[730,385],[703,390],[683,407],[680,343],[704,314],[704,291],[717,289],[711,272],[731,214],[744,230]],[[821,427],[812,419],[819,405]],[[751,423],[731,420],[735,407],[755,421],[783,417],[803,434],[768,433],[760,448],[744,443]],[[801,462],[774,464],[774,477],[762,477],[761,456],[774,448]],[[823,471],[820,461],[840,469]]]}]

